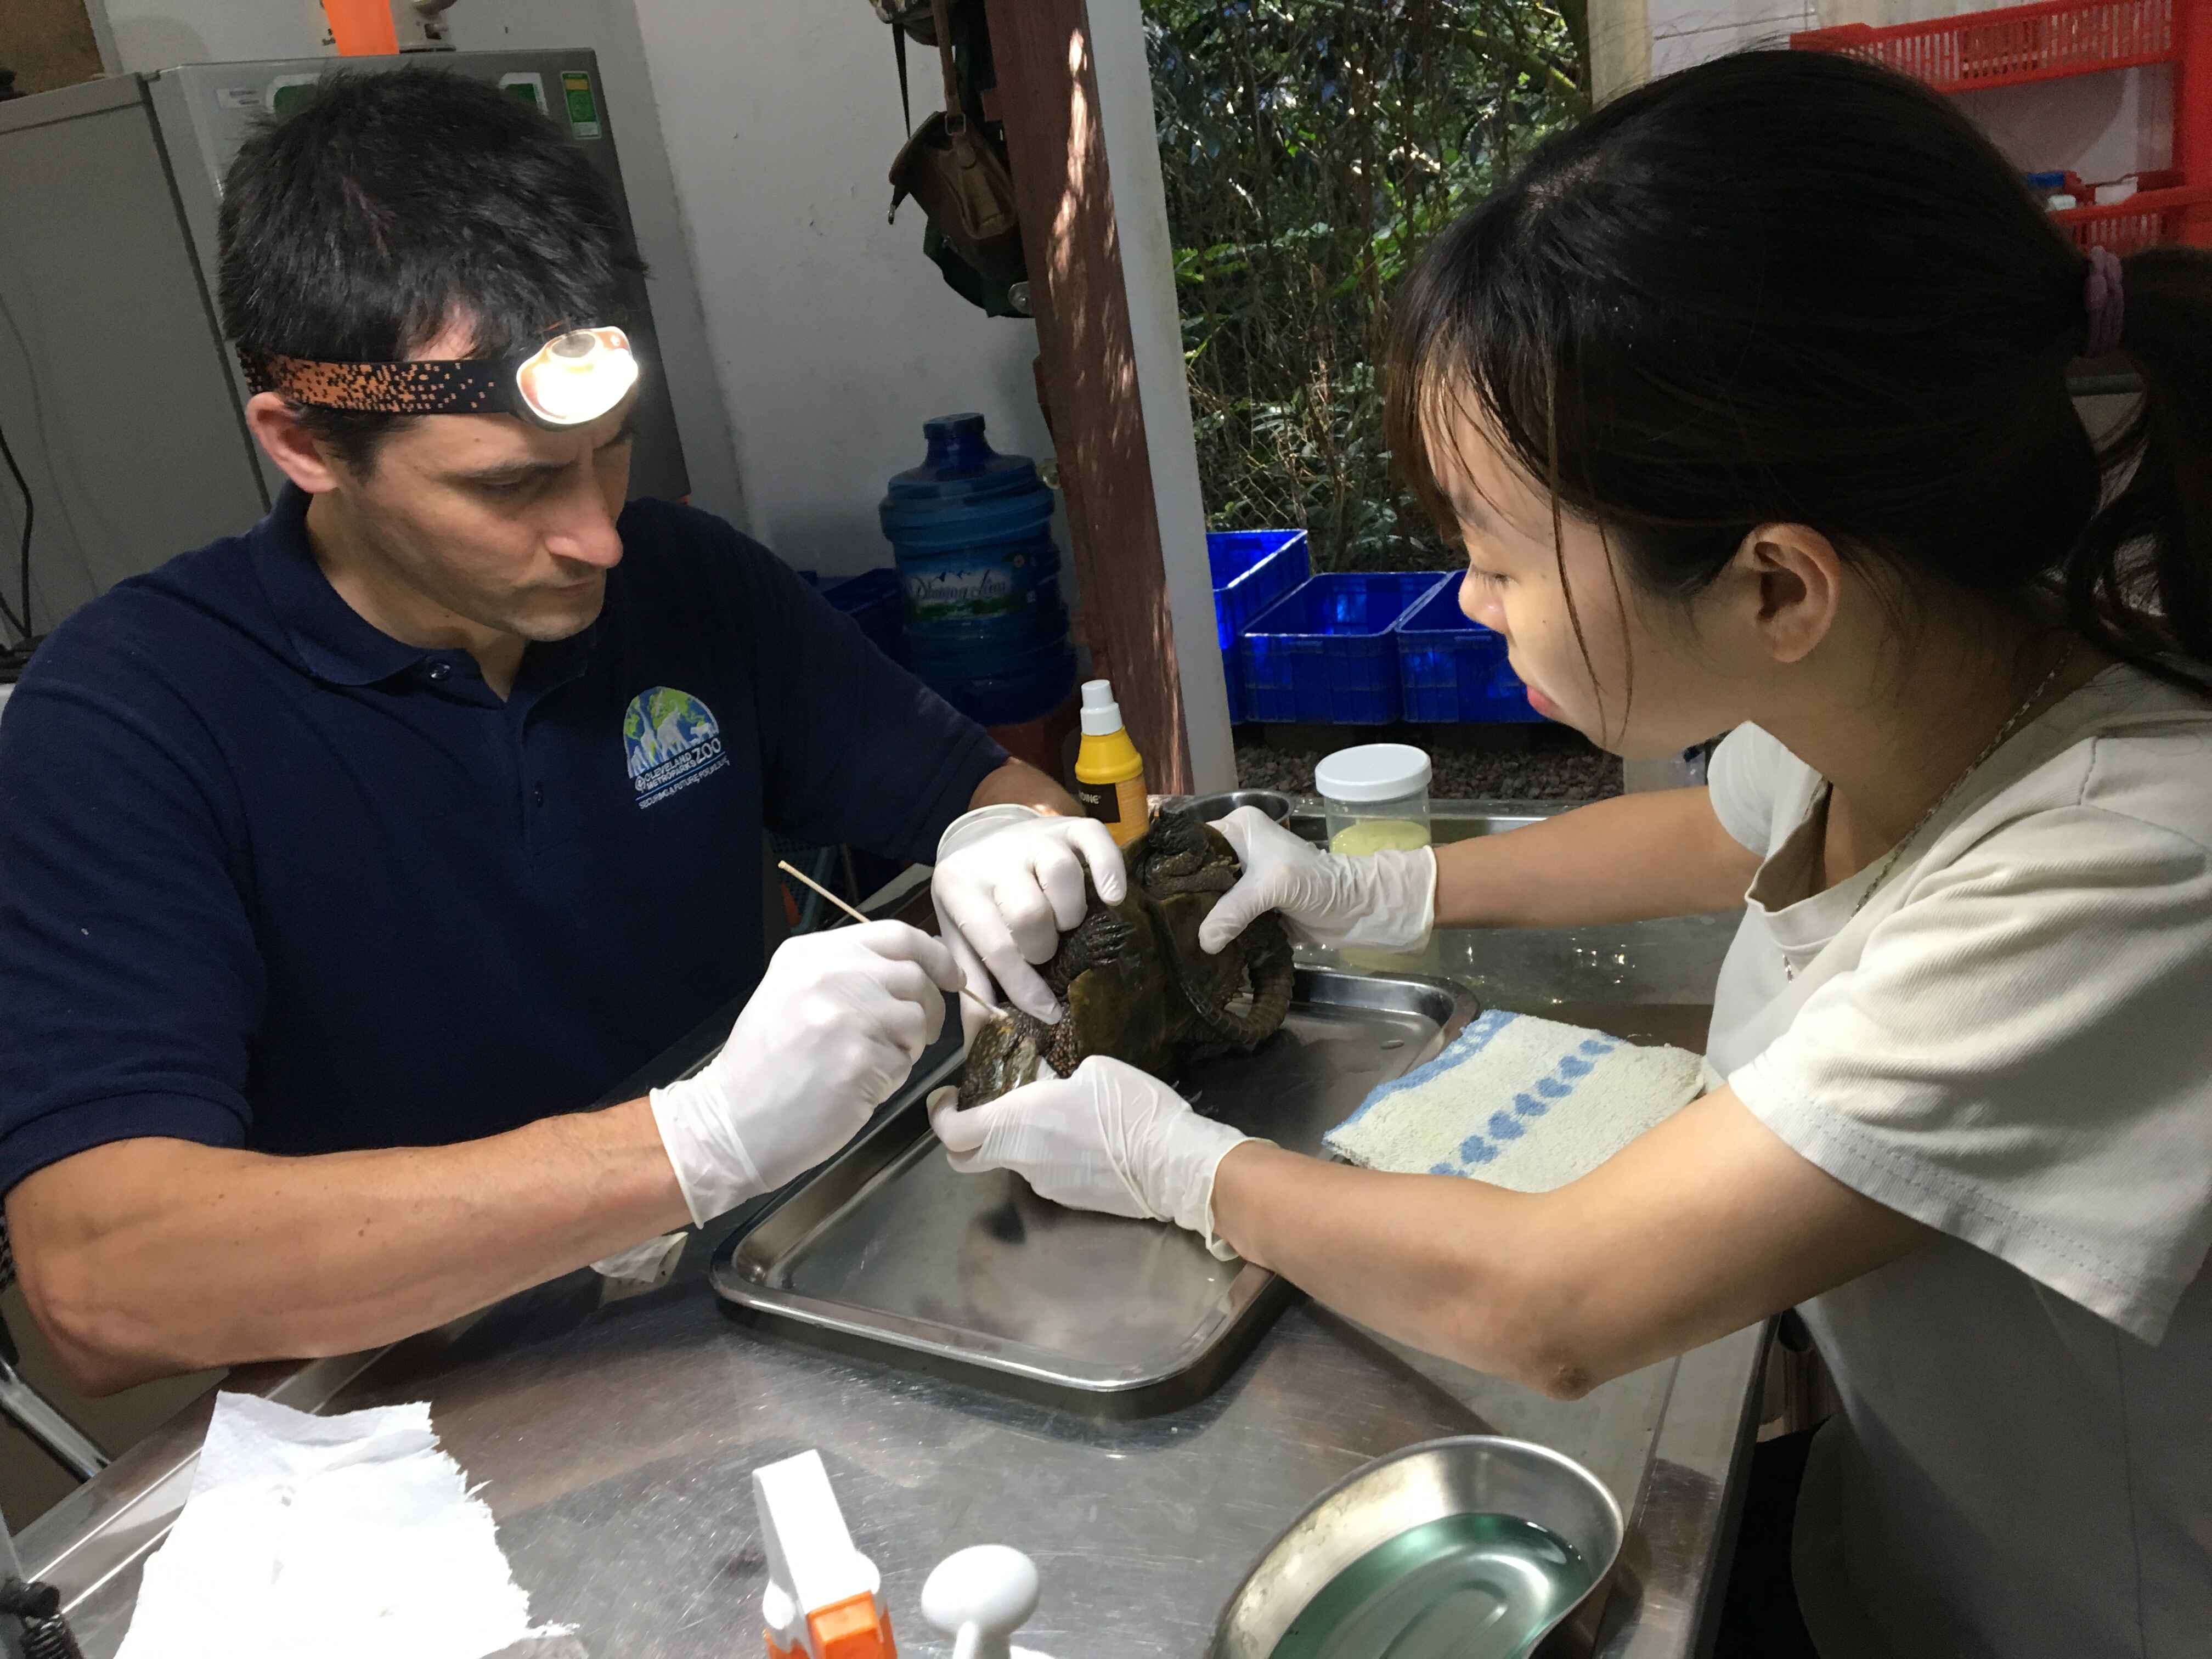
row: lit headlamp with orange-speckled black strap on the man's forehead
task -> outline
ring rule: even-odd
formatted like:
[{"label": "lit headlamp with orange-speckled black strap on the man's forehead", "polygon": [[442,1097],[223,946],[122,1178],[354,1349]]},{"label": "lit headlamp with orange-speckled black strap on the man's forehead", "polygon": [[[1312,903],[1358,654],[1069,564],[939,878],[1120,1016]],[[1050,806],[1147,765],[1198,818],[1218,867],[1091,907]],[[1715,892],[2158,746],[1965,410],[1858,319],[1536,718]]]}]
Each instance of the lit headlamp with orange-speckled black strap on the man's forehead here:
[{"label": "lit headlamp with orange-speckled black strap on the man's forehead", "polygon": [[533,427],[584,427],[637,385],[637,354],[619,327],[562,330],[504,358],[319,363],[241,354],[246,385],[312,409],[372,414],[511,414]]}]

